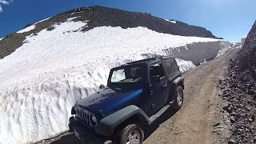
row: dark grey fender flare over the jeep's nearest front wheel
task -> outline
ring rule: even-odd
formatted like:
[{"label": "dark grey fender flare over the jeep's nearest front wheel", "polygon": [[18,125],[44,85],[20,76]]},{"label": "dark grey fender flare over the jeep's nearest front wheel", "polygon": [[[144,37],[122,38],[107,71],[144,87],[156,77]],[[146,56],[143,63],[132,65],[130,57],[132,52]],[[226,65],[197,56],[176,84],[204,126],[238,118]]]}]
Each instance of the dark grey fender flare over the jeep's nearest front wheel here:
[{"label": "dark grey fender flare over the jeep's nearest front wheel", "polygon": [[114,133],[114,129],[119,126],[122,122],[125,122],[127,119],[133,117],[135,114],[138,114],[141,121],[150,122],[150,119],[144,113],[143,110],[138,108],[138,106],[126,106],[125,108],[114,112],[102,118],[101,121],[98,122],[98,125],[95,127],[95,133],[110,136]]}]

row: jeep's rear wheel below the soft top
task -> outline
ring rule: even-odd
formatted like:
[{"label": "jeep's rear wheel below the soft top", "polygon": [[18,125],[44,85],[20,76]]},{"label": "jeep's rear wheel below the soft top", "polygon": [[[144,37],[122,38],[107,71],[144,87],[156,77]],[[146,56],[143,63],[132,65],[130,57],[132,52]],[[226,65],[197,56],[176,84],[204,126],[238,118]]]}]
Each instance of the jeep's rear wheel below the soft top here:
[{"label": "jeep's rear wheel below the soft top", "polygon": [[183,89],[182,86],[176,87],[175,97],[174,97],[174,110],[179,110],[183,104]]}]

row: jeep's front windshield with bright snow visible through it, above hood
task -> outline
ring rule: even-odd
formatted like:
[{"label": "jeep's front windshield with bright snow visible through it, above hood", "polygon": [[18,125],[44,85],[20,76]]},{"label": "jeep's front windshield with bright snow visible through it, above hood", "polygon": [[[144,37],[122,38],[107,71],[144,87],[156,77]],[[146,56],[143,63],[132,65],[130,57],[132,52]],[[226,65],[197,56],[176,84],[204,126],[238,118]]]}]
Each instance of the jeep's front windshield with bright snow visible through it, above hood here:
[{"label": "jeep's front windshield with bright snow visible through it, above hood", "polygon": [[142,66],[129,66],[113,70],[108,86],[115,90],[136,90],[142,88]]}]

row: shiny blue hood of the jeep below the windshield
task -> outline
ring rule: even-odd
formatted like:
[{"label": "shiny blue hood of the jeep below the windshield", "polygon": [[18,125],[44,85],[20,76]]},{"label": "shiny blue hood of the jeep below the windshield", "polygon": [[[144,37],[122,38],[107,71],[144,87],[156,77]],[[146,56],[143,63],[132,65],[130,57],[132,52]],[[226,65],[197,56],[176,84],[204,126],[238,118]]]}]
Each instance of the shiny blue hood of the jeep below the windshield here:
[{"label": "shiny blue hood of the jeep below the windshield", "polygon": [[82,98],[76,104],[89,110],[97,118],[103,118],[115,110],[129,105],[131,101],[134,102],[134,99],[138,98],[141,94],[142,90],[122,92],[105,88],[86,98]]}]

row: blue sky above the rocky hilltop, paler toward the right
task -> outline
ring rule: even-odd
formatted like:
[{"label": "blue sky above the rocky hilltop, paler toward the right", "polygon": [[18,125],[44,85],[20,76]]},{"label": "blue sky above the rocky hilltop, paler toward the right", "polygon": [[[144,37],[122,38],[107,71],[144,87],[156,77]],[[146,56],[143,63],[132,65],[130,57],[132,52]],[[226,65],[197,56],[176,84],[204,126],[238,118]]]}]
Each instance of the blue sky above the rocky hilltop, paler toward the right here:
[{"label": "blue sky above the rocky hilltop, paler toward the right", "polygon": [[255,0],[0,0],[0,38],[28,23],[77,7],[95,5],[147,12],[206,27],[230,42],[240,41],[256,19]]}]

